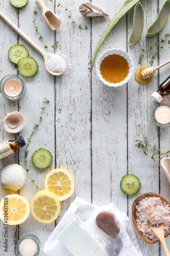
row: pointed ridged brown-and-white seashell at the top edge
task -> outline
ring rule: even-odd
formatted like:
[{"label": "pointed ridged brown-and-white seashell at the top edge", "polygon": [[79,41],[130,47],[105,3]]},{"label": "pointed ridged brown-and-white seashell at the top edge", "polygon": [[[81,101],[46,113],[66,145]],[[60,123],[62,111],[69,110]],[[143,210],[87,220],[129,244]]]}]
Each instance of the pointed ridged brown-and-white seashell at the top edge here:
[{"label": "pointed ridged brown-and-white seashell at the top edge", "polygon": [[104,12],[100,7],[92,5],[87,2],[79,6],[79,12],[83,15],[83,17],[95,17],[95,16],[105,16],[109,17],[109,14]]}]

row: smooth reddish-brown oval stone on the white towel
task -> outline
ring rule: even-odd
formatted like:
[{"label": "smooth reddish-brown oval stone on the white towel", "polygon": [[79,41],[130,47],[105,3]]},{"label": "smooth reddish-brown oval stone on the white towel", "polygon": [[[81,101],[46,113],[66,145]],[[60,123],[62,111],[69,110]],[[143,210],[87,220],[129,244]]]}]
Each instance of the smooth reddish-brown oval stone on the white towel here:
[{"label": "smooth reddish-brown oval stone on the white towel", "polygon": [[102,211],[95,219],[96,224],[102,229],[108,236],[116,237],[120,232],[119,227],[114,221],[114,216],[110,211]]}]

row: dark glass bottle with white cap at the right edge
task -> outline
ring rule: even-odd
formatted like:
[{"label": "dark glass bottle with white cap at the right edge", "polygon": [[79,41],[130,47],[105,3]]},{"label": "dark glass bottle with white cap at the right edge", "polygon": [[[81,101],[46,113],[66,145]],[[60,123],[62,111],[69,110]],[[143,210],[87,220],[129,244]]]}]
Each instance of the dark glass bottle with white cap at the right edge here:
[{"label": "dark glass bottle with white cap at the right edge", "polygon": [[[157,102],[160,102],[161,100],[163,100],[163,97],[165,95],[170,94],[170,80],[169,79],[170,79],[170,75],[160,84],[158,91],[156,91],[152,94],[152,97]],[[169,80],[169,81],[167,82],[167,80]]]}]

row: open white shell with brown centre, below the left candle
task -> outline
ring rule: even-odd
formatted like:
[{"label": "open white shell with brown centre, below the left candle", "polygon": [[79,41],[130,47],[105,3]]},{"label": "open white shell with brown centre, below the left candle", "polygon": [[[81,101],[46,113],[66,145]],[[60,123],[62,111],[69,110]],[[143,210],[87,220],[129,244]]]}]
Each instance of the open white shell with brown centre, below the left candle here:
[{"label": "open white shell with brown centre, below the left candle", "polygon": [[6,114],[2,124],[8,133],[19,133],[25,125],[25,121],[21,113],[14,111]]}]

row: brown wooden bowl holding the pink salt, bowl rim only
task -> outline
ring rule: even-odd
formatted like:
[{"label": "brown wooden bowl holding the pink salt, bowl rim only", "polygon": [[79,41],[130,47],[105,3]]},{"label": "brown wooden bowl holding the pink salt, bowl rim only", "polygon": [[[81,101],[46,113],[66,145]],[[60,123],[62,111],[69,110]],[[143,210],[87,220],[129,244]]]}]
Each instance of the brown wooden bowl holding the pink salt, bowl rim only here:
[{"label": "brown wooden bowl holding the pink salt, bowl rim only", "polygon": [[[143,239],[143,241],[144,241],[145,243],[147,243],[147,244],[156,244],[157,242],[159,242],[159,240],[156,241],[156,242],[153,242],[151,239],[149,239],[149,238],[147,238],[146,236],[144,236],[144,234],[143,234],[143,233],[138,229],[138,227],[137,227],[137,222],[136,222],[136,205],[137,205],[137,204],[139,203],[139,201],[142,200],[144,197],[160,197],[160,199],[161,199],[162,201],[164,201],[165,203],[167,203],[167,204],[169,204],[169,205],[170,205],[170,203],[169,203],[164,197],[162,197],[161,195],[156,194],[156,193],[151,193],[151,192],[142,194],[141,196],[139,196],[138,198],[136,198],[135,201],[133,202],[133,205],[132,205],[132,221],[133,221],[133,225],[134,225],[136,231],[138,232],[138,234],[140,235],[140,237]],[[170,234],[170,232],[169,232],[169,233],[166,233],[166,234],[165,234],[165,238],[168,237],[169,234]]]}]

